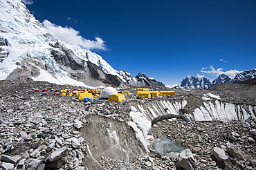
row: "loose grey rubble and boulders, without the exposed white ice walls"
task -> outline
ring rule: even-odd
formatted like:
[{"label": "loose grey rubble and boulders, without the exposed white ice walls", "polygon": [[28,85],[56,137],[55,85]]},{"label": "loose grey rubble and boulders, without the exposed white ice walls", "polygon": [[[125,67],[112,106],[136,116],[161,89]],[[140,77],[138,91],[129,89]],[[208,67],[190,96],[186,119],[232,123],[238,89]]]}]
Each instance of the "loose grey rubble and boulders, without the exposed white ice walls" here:
[{"label": "loose grey rubble and boulders, without the exposed white ice walls", "polygon": [[[239,91],[234,86],[239,86]],[[172,119],[154,124],[149,135],[154,139],[165,136],[184,147],[185,162],[181,162],[181,154],[171,151],[167,155],[154,151],[143,154],[135,144],[135,136],[134,140],[127,140],[129,148],[134,149],[129,154],[129,162],[107,156],[95,160],[93,153],[97,148],[90,145],[93,135],[100,133],[100,127],[108,127],[108,122],[116,128],[122,126],[120,131],[124,138],[133,138],[131,129],[125,129],[131,105],[148,106],[156,100],[185,99],[190,103],[185,108],[189,113],[202,103],[203,94],[210,91],[220,95],[223,101],[255,106],[255,82],[228,84],[226,88],[221,85],[210,90],[176,89],[176,96],[165,98],[130,95],[123,102],[93,100],[84,103],[75,97],[53,96],[66,88],[82,89],[30,79],[0,81],[2,169],[256,169],[255,120],[185,122]],[[41,95],[44,89],[49,90],[49,96]],[[152,89],[163,90],[162,87]],[[91,122],[96,122],[99,128],[92,130]],[[190,165],[183,167],[182,164],[188,162]]]}]

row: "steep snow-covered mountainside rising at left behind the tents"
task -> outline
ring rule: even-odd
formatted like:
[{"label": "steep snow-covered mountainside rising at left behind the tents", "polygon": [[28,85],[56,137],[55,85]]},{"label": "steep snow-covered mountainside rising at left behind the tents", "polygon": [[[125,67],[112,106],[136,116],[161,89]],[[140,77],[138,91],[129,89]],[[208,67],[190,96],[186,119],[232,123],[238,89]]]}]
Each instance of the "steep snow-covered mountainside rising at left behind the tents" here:
[{"label": "steep snow-covered mountainside rising at left behind the tents", "polygon": [[0,1],[0,79],[31,78],[78,86],[164,86],[115,70],[100,55],[66,44],[21,0]]}]

